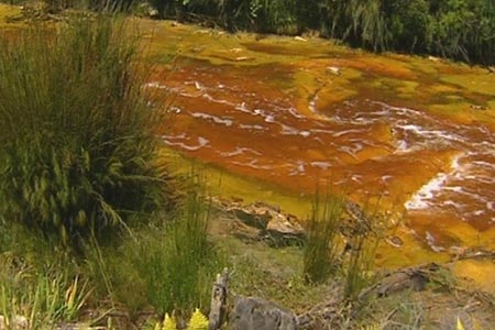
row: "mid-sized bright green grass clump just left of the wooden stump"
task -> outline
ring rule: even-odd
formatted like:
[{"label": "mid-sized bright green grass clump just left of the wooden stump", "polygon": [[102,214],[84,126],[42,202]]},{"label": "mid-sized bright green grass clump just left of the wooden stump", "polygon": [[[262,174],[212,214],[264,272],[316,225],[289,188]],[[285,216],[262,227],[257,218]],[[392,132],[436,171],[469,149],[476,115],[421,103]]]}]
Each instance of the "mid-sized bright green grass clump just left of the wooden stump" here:
[{"label": "mid-sized bright green grass clump just left of the wooden stump", "polygon": [[222,268],[208,240],[209,207],[191,189],[178,213],[157,237],[142,241],[135,266],[145,282],[147,300],[161,312],[189,315],[208,306],[211,283]]}]

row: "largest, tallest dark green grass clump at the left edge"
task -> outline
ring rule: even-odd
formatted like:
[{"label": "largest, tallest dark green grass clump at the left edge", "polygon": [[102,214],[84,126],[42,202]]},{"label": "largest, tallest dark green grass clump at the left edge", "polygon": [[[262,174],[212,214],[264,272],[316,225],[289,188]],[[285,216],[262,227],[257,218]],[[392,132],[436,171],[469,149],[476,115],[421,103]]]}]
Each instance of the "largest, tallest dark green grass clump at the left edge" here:
[{"label": "largest, tallest dark green grass clump at the left edge", "polygon": [[163,207],[139,55],[103,15],[0,36],[1,221],[74,243]]}]

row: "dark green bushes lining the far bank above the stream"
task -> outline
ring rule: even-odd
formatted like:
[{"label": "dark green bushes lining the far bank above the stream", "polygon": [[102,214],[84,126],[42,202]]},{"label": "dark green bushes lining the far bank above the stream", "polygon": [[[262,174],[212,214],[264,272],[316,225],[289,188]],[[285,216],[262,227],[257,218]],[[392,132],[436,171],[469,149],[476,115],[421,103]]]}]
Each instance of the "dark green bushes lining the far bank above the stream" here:
[{"label": "dark green bushes lining the far bank above the stream", "polygon": [[161,18],[327,37],[375,52],[495,63],[494,0],[153,0]]}]

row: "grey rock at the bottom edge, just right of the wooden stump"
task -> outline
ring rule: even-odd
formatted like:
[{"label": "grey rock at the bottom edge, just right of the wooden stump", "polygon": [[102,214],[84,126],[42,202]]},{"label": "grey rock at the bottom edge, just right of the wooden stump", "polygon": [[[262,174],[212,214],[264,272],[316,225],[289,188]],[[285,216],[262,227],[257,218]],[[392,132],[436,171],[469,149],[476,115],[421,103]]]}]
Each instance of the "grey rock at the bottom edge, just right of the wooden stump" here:
[{"label": "grey rock at the bottom edge, just right of the wooden stump", "polygon": [[253,297],[238,297],[230,315],[232,330],[295,330],[296,316],[273,302]]}]

